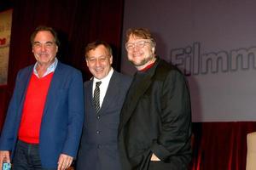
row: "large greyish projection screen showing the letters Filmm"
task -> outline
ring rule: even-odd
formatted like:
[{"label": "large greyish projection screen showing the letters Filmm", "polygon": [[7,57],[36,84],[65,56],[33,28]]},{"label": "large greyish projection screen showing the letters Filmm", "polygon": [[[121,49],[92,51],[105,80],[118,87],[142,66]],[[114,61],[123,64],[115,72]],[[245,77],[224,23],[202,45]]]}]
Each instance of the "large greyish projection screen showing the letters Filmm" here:
[{"label": "large greyish projection screen showing the letters Filmm", "polygon": [[121,71],[132,75],[125,31],[146,27],[157,54],[189,82],[193,122],[256,121],[256,1],[125,1]]}]

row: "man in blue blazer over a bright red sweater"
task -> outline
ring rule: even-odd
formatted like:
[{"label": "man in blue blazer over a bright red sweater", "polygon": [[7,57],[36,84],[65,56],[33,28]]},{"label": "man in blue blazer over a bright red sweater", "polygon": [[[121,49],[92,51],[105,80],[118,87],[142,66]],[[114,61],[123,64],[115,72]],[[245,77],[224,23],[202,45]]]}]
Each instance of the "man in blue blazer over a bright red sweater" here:
[{"label": "man in blue blazer over a bright red sweater", "polygon": [[52,28],[39,26],[31,42],[37,63],[16,78],[0,139],[0,169],[12,159],[14,170],[64,170],[77,155],[82,133],[82,75],[56,59],[59,41]]}]

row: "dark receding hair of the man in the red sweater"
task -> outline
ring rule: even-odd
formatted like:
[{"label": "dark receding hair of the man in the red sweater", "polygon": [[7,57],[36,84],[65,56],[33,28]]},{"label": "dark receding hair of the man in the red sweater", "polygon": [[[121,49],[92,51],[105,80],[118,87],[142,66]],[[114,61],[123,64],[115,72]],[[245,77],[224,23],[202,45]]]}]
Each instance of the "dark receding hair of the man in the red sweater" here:
[{"label": "dark receding hair of the man in the red sweater", "polygon": [[55,39],[55,44],[57,46],[60,45],[60,40],[58,38],[57,32],[52,27],[49,27],[49,26],[38,26],[35,29],[35,31],[32,32],[32,35],[30,37],[30,41],[31,41],[32,45],[33,45],[35,37],[37,36],[39,31],[49,31],[52,34],[52,36],[54,37],[54,39]]}]

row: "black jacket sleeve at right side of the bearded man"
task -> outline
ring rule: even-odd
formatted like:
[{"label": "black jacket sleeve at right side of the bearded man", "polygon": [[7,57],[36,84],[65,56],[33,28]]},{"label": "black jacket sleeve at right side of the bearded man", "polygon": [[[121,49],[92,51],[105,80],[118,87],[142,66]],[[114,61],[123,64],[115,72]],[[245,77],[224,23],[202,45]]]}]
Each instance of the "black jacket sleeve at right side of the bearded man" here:
[{"label": "black jacket sleeve at right side of the bearded man", "polygon": [[165,161],[170,156],[190,154],[191,111],[189,88],[179,71],[169,72],[161,91],[160,136],[151,150]]}]

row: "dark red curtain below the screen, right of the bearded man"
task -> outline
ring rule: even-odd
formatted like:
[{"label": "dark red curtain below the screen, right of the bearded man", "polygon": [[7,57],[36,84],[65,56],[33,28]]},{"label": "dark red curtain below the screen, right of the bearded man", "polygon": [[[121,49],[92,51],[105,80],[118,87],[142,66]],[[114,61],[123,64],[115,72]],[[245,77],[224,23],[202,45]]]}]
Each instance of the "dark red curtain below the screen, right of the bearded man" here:
[{"label": "dark red curtain below the screen, right of the bearded man", "polygon": [[254,131],[256,122],[193,123],[193,160],[190,169],[246,169],[247,133]]}]

